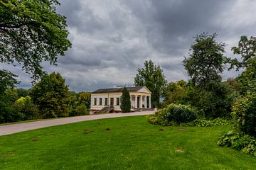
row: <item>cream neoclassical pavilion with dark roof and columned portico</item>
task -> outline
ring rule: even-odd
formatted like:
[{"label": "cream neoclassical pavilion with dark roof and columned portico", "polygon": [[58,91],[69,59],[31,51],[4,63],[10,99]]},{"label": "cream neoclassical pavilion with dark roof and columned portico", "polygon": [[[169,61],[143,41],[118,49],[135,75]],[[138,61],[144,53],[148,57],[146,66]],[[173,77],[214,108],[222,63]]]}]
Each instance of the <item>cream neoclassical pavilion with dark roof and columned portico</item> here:
[{"label": "cream neoclassical pavilion with dark roof and columned portico", "polygon": [[[151,91],[146,86],[127,87],[131,96],[132,111],[143,111],[151,108]],[[91,94],[90,113],[98,113],[105,109],[121,111],[122,87],[112,89],[98,89]]]}]

